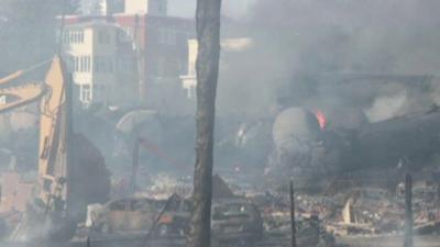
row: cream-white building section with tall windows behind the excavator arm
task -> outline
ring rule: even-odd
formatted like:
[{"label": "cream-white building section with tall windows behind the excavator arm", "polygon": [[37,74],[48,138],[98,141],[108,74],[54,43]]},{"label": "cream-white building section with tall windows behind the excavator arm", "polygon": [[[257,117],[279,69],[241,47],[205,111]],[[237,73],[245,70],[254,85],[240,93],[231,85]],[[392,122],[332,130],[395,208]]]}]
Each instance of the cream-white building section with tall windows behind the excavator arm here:
[{"label": "cream-white building section with tall windows behind the excavator arm", "polygon": [[72,24],[63,34],[63,52],[75,82],[75,94],[85,106],[116,104],[120,29],[101,21]]}]

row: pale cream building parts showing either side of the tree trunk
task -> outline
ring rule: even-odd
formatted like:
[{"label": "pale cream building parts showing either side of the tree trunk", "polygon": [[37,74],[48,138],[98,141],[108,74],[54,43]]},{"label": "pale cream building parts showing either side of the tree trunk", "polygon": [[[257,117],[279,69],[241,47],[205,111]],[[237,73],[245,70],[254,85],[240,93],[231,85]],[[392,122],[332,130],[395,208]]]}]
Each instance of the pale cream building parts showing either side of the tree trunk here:
[{"label": "pale cream building parts showing either side of the tree trunk", "polygon": [[[249,49],[252,46],[251,38],[226,38],[220,41],[221,56],[220,56],[220,69],[224,67],[223,58],[228,56],[228,53],[239,53]],[[198,42],[197,40],[188,41],[188,71],[187,75],[180,76],[182,87],[187,92],[188,99],[196,97],[197,86],[197,74],[196,74],[196,60],[198,54]]]}]

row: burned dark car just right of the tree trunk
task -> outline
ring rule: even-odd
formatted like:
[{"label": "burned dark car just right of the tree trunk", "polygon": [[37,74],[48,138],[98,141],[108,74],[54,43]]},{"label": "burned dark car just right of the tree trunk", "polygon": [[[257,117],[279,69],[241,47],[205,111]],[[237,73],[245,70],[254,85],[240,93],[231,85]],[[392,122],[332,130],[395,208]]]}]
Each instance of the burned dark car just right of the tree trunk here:
[{"label": "burned dark car just right of the tree trunk", "polygon": [[211,231],[218,243],[249,244],[263,236],[263,220],[258,209],[250,201],[218,199],[212,204]]}]

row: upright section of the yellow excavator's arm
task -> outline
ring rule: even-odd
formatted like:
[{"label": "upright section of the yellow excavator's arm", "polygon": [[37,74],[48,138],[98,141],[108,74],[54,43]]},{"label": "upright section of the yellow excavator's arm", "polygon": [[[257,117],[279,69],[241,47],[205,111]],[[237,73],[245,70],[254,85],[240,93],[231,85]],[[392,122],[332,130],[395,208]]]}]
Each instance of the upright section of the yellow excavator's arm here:
[{"label": "upright section of the yellow excavator's arm", "polygon": [[67,203],[69,105],[66,102],[68,77],[59,57],[46,74],[46,92],[41,101],[38,187],[47,210],[57,211],[56,201]]}]

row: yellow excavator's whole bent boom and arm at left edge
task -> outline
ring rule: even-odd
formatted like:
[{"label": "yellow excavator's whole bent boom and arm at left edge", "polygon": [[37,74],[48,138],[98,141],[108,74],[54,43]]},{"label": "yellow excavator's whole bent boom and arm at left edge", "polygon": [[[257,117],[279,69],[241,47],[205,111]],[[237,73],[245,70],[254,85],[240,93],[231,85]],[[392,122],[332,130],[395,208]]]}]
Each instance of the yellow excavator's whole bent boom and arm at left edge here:
[{"label": "yellow excavator's whole bent boom and arm at left edge", "polygon": [[[40,101],[40,145],[38,178],[36,191],[48,211],[65,210],[68,199],[68,138],[70,136],[72,106],[66,93],[69,78],[58,56],[52,66],[44,83],[13,82],[24,74],[19,70],[0,79],[0,113]],[[65,204],[64,206],[62,204]]]}]

